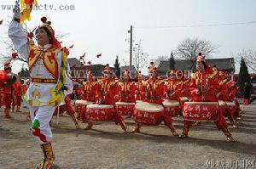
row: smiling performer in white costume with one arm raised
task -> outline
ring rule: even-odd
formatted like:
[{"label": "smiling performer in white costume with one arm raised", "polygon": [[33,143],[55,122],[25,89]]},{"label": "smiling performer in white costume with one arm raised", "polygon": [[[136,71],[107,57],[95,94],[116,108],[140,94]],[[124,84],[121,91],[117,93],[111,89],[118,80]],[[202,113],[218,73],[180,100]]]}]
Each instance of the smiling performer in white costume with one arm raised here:
[{"label": "smiling performer in white costume with one arm raised", "polygon": [[9,38],[15,49],[27,59],[31,83],[27,88],[25,99],[32,119],[32,135],[43,150],[43,161],[38,168],[50,168],[55,160],[50,140],[52,132],[49,121],[55,107],[72,93],[73,83],[67,76],[67,48],[61,48],[55,39],[55,31],[45,17],[35,35],[38,46],[28,40],[27,34],[20,25],[20,8],[16,3],[14,19],[9,25]]}]

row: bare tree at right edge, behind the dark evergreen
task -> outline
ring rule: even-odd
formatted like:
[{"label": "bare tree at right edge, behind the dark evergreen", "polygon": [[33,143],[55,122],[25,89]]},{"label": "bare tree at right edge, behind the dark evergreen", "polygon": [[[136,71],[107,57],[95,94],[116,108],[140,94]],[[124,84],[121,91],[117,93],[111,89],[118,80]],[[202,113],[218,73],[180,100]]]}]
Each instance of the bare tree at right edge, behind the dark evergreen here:
[{"label": "bare tree at right edge, behind the dark evergreen", "polygon": [[241,63],[241,58],[245,61],[246,65],[253,71],[256,71],[256,50],[243,49],[240,53],[234,56],[236,62]]}]

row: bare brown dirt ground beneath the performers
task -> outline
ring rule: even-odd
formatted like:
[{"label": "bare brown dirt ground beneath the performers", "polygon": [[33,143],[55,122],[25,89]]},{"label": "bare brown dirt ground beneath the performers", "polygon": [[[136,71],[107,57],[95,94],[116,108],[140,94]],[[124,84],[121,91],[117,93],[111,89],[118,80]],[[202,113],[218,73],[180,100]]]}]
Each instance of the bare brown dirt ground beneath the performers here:
[{"label": "bare brown dirt ground beneath the performers", "polygon": [[[243,106],[239,128],[230,131],[236,143],[226,141],[212,123],[193,127],[189,138],[172,136],[164,125],[143,127],[141,133],[123,132],[113,122],[102,123],[93,130],[75,129],[69,115],[53,119],[54,167],[68,169],[138,169],[138,168],[248,168],[256,167],[256,104]],[[41,161],[42,154],[29,131],[26,109],[3,118],[0,110],[0,168],[30,169]],[[134,122],[126,120],[131,131]],[[79,123],[82,128],[84,123]],[[181,117],[174,118],[181,133]]]}]

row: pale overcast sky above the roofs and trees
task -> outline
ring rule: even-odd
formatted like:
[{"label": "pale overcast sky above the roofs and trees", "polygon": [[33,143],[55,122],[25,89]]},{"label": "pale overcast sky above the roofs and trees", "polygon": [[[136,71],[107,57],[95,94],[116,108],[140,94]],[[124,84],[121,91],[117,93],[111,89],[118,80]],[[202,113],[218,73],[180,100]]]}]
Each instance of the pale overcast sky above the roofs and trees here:
[{"label": "pale overcast sky above the roofs and trees", "polygon": [[[256,49],[256,24],[222,25],[212,27],[177,28],[161,26],[228,24],[256,21],[255,0],[38,0],[47,8],[32,11],[32,29],[47,16],[55,31],[69,33],[62,38],[63,45],[74,44],[70,57],[79,58],[86,52],[86,61],[92,64],[113,65],[119,55],[129,62],[130,25],[134,26],[135,41],[142,39],[144,52],[149,59],[169,55],[183,39],[199,37],[218,45],[218,53],[212,58],[230,57],[242,49]],[[15,0],[0,0],[0,20],[11,20],[12,11],[3,5],[15,4]],[[50,10],[49,5],[54,5]],[[74,10],[61,10],[61,5],[74,5]],[[0,26],[1,37],[6,37],[7,26]],[[0,46],[0,53],[4,50]],[[102,53],[101,59],[96,54]],[[16,64],[17,65],[17,64]],[[20,65],[15,66],[15,71]]]}]

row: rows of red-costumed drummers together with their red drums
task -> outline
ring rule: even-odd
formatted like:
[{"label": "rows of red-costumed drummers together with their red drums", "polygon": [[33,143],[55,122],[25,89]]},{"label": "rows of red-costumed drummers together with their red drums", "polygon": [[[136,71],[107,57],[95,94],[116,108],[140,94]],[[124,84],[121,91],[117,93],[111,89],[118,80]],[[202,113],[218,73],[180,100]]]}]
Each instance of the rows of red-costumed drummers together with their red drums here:
[{"label": "rows of red-costumed drummers together with their red drums", "polygon": [[[181,70],[171,70],[168,78],[162,79],[151,62],[149,79],[143,81],[143,75],[138,73],[137,82],[132,82],[128,70],[116,80],[108,65],[103,70],[102,79],[96,82],[88,70],[80,100],[74,104],[75,111],[80,120],[88,123],[86,130],[97,121],[115,121],[126,132],[124,119],[131,117],[136,124],[132,132],[164,121],[173,136],[188,138],[191,126],[201,121],[213,121],[228,141],[235,142],[224,117],[228,117],[232,127],[237,127],[237,119],[241,116],[235,99],[238,87],[230,81],[227,72],[210,68],[201,53],[196,68],[190,77],[183,76]],[[183,116],[181,135],[172,125],[172,117],[177,115]]]}]

